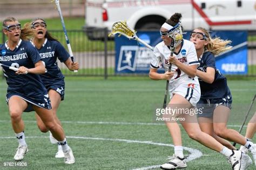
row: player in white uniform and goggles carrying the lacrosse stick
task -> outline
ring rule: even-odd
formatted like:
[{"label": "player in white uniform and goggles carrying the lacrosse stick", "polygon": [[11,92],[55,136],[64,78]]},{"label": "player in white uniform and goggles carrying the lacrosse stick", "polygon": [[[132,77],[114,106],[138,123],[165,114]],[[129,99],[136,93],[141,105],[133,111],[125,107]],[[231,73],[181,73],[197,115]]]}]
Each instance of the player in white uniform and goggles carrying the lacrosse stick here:
[{"label": "player in white uniform and goggles carrying the lacrosse stick", "polygon": [[[241,151],[230,150],[207,133],[202,132],[197,123],[196,115],[193,115],[194,110],[190,114],[178,112],[178,109],[193,109],[200,99],[200,86],[196,77],[197,67],[199,66],[197,53],[194,44],[183,39],[180,18],[181,14],[175,13],[161,26],[160,34],[163,41],[154,48],[155,58],[151,62],[149,73],[152,80],[170,80],[169,94],[171,100],[168,107],[176,108],[176,110],[174,109],[175,114],[172,115],[174,121],[165,121],[173,139],[174,155],[169,162],[161,165],[160,168],[187,167],[183,155],[181,131],[176,122],[176,118],[181,118],[180,120],[186,120],[180,121],[180,123],[190,138],[225,155],[233,169],[240,169],[240,160],[243,154]],[[173,56],[171,56],[170,49],[173,50]],[[171,72],[168,72],[169,65],[171,65]],[[165,69],[164,74],[157,73],[157,69],[161,66]],[[165,112],[163,117],[166,118],[166,115]]]}]

